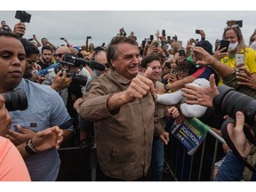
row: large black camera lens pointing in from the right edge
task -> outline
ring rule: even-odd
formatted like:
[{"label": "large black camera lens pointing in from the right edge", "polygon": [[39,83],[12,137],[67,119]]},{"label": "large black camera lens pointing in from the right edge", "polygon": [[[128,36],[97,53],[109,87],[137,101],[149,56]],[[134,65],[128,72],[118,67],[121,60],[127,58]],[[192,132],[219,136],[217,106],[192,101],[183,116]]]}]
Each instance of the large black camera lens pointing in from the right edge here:
[{"label": "large black camera lens pointing in from the right edge", "polygon": [[212,100],[213,107],[234,119],[236,112],[241,111],[244,113],[245,123],[253,126],[256,120],[256,100],[227,85],[218,86],[218,90],[220,94]]}]

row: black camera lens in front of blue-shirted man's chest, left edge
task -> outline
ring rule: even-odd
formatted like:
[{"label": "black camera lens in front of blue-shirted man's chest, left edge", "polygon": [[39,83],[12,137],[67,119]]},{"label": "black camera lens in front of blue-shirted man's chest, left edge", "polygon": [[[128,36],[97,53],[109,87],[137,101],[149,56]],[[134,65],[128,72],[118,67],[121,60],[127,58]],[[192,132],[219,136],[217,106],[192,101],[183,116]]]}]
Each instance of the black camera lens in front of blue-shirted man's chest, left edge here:
[{"label": "black camera lens in front of blue-shirted man's chest, left edge", "polygon": [[26,93],[22,89],[16,89],[12,92],[4,92],[5,108],[8,111],[26,110],[28,108],[28,100]]}]

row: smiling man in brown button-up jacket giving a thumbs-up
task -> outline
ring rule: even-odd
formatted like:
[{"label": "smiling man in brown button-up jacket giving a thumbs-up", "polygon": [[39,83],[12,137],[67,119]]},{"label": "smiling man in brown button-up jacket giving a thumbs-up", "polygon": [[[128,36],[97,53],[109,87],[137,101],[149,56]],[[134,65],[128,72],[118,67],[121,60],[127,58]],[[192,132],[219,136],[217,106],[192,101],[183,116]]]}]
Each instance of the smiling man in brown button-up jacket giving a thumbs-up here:
[{"label": "smiling man in brown button-up jacket giving a thumbs-up", "polygon": [[114,37],[107,55],[111,70],[92,80],[77,111],[94,122],[102,180],[146,180],[154,132],[164,133],[147,78],[152,68],[138,75],[138,44],[129,37]]}]

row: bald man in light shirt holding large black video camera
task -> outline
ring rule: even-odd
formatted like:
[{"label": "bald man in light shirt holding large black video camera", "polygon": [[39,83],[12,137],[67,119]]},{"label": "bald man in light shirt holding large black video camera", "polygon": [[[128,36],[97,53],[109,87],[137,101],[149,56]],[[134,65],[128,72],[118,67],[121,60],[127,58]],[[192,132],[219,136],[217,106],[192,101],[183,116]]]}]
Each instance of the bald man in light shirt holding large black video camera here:
[{"label": "bald man in light shirt holding large black video camera", "polygon": [[[67,48],[66,46],[65,48],[61,46],[56,53],[67,51]],[[52,89],[60,94],[60,97],[68,109],[68,114],[74,119],[73,124],[75,131],[76,129],[78,130],[78,116],[73,106],[78,98],[83,97],[86,86],[92,79],[89,71],[84,68],[84,63],[76,59],[78,59],[78,57],[74,53],[61,55],[59,63],[55,68],[48,70],[49,73],[45,76],[43,82],[43,84],[51,85]],[[79,136],[76,135],[76,137]]]}]

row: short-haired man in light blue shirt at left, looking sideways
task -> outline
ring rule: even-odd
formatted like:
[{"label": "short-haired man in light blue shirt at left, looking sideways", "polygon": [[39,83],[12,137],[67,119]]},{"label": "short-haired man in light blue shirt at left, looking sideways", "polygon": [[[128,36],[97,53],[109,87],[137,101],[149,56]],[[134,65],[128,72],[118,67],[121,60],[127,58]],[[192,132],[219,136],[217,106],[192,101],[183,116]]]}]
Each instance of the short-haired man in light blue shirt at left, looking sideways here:
[{"label": "short-haired man in light blue shirt at left, looking sideways", "polygon": [[[26,92],[28,98],[27,109],[9,111],[12,125],[6,137],[12,140],[16,146],[19,146],[31,140],[36,132],[59,125],[63,129],[63,139],[68,140],[73,125],[69,124],[70,116],[60,96],[48,86],[35,84],[22,78],[26,70],[26,62],[31,60],[29,60],[30,57],[26,60],[26,52],[19,37],[12,33],[0,33],[0,52],[2,68],[0,71],[0,92],[11,92],[21,88]],[[18,96],[12,98],[13,101],[16,100],[20,104],[26,102],[26,100],[21,99]],[[34,144],[36,145],[36,143]],[[31,141],[28,145],[31,147]],[[22,154],[21,149],[20,153]],[[28,166],[31,180],[50,181],[57,179],[60,171],[60,157],[56,148],[38,154],[36,154],[36,150],[28,149],[28,153],[31,156],[25,159],[25,163]]]}]

